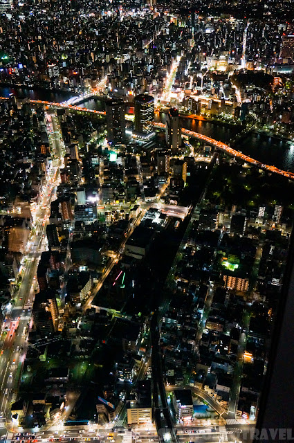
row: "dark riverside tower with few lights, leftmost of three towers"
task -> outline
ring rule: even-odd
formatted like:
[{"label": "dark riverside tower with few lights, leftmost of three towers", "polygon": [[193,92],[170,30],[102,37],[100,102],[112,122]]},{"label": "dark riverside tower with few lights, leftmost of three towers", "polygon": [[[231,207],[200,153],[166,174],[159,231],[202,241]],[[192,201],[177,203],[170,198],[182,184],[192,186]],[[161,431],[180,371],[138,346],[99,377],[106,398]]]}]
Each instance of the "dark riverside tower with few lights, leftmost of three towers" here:
[{"label": "dark riverside tower with few lights, leftmost of three towers", "polygon": [[107,140],[113,145],[125,141],[125,104],[120,98],[106,102]]}]

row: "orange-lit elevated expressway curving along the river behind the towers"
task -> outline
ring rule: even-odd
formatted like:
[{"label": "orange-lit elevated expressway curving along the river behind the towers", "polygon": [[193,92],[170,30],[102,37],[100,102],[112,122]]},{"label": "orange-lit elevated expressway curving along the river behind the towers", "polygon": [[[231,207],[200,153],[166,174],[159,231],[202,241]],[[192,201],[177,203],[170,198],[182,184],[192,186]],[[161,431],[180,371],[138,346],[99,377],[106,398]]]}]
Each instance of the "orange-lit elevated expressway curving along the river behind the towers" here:
[{"label": "orange-lit elevated expressway curving along the river behind the towers", "polygon": [[[95,111],[94,109],[87,109],[87,108],[81,108],[78,106],[68,105],[64,103],[54,103],[54,102],[45,102],[42,100],[30,100],[33,104],[39,104],[39,105],[47,105],[47,106],[54,106],[54,107],[64,107],[68,109],[73,109],[75,111],[85,111],[85,112],[91,112],[92,114],[100,114],[102,116],[105,116],[105,111]],[[165,129],[165,125],[163,123],[154,123],[154,127],[157,129]],[[257,166],[258,168],[267,170],[268,172],[275,172],[275,174],[282,175],[283,177],[287,177],[288,179],[294,180],[294,174],[293,172],[283,171],[275,166],[266,165],[265,163],[261,163],[261,161],[257,161],[255,159],[252,159],[251,157],[243,154],[240,151],[236,151],[232,149],[232,147],[226,145],[226,143],[222,143],[221,141],[214,140],[214,138],[210,138],[208,136],[205,136],[203,134],[199,134],[198,132],[190,131],[189,129],[182,128],[182,134],[185,136],[189,136],[192,138],[196,138],[197,140],[204,141],[205,143],[208,143],[208,145],[211,145],[218,150],[221,150],[223,152],[226,152],[227,154],[230,154],[233,157],[237,157],[238,159],[241,159],[243,161],[246,161],[247,163],[251,163],[252,165]]]}]

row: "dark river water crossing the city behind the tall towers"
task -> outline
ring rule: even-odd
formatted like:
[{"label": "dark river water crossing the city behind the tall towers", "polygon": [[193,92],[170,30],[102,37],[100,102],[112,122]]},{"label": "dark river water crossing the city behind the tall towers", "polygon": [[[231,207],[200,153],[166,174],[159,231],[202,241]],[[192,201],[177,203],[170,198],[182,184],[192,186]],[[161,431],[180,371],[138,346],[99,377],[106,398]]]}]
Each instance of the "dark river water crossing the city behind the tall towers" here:
[{"label": "dark river water crossing the city behind the tall towers", "polygon": [[[0,87],[1,97],[8,97],[10,94],[17,97],[30,97],[32,100],[47,100],[49,102],[64,102],[74,95],[70,92],[55,92],[44,89],[33,90]],[[80,106],[88,107],[89,109],[98,109],[99,111],[104,109],[104,103],[94,99],[87,100]],[[160,116],[157,114],[156,120],[163,121],[164,123],[165,114],[160,114]],[[192,120],[190,118],[183,118],[182,125],[186,129],[200,132],[224,143],[230,141],[230,138],[235,134],[234,129],[230,127],[215,125],[214,123],[203,122],[201,120]],[[279,169],[294,172],[294,143],[291,144],[286,141],[280,141],[278,138],[252,133],[239,141],[235,148],[262,163],[275,165]]]}]

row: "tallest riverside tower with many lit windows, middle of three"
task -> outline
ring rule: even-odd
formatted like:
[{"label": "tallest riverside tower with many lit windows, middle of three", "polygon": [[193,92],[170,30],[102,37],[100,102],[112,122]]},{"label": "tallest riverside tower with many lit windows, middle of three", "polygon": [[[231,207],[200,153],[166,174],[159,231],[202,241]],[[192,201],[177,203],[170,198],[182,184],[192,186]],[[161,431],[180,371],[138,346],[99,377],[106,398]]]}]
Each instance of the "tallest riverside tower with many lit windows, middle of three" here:
[{"label": "tallest riverside tower with many lit windows, middle of three", "polygon": [[154,98],[147,94],[135,97],[135,127],[134,138],[149,141],[155,136],[154,132]]}]

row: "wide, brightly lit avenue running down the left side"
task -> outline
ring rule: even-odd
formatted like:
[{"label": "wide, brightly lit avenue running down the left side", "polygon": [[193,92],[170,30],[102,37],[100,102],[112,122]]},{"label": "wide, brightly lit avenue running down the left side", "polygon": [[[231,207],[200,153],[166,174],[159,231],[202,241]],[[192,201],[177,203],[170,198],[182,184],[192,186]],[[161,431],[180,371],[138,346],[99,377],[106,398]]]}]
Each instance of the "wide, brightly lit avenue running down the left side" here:
[{"label": "wide, brightly lit avenue running down the left side", "polygon": [[0,341],[0,418],[3,427],[6,423],[9,429],[14,429],[10,404],[16,399],[22,366],[26,359],[27,338],[32,326],[31,310],[37,290],[37,266],[42,252],[46,250],[46,225],[50,215],[50,203],[55,199],[59,168],[62,166],[62,141],[56,135],[57,123],[54,117],[51,118],[51,114],[48,114],[47,123],[47,129],[52,134],[55,133],[51,138],[51,150],[55,154],[55,160],[48,170],[39,202],[33,210],[33,228],[22,261],[19,291],[3,322]]}]

